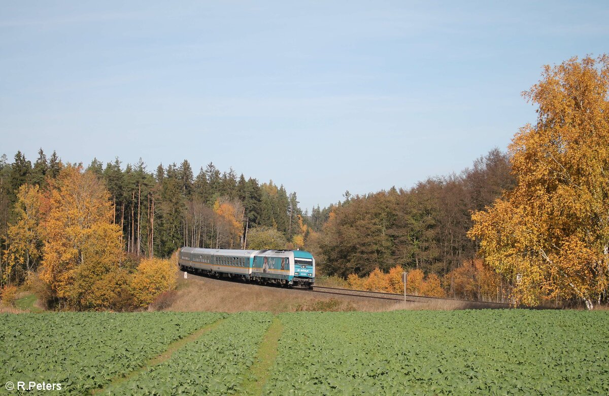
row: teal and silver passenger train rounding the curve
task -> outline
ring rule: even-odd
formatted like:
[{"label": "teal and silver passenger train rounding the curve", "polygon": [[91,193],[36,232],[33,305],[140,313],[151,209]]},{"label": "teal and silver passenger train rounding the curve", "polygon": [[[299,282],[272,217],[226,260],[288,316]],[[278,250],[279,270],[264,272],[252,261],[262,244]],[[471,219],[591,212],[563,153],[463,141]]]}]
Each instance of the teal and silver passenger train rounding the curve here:
[{"label": "teal and silver passenger train rounding the curve", "polygon": [[302,250],[205,249],[184,246],[178,253],[182,271],[243,279],[263,284],[313,288],[315,258]]}]

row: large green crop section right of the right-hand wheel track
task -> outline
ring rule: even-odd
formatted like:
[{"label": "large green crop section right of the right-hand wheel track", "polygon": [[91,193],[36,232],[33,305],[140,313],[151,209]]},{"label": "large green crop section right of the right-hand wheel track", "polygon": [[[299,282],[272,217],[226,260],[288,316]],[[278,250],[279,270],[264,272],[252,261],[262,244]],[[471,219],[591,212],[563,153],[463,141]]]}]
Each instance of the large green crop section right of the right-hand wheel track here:
[{"label": "large green crop section right of the right-hand wheel track", "polygon": [[264,389],[305,394],[609,392],[609,316],[575,311],[394,311],[280,316]]}]

